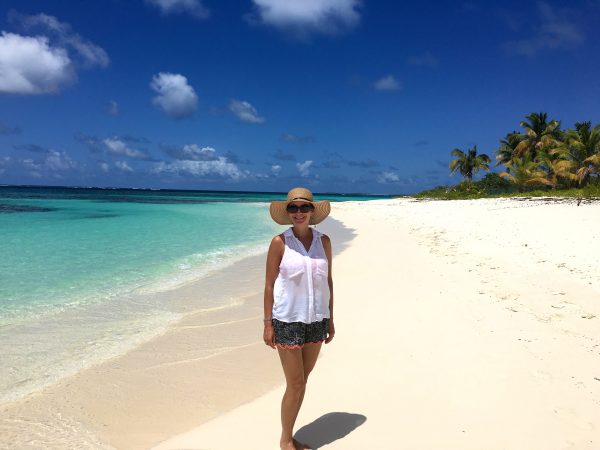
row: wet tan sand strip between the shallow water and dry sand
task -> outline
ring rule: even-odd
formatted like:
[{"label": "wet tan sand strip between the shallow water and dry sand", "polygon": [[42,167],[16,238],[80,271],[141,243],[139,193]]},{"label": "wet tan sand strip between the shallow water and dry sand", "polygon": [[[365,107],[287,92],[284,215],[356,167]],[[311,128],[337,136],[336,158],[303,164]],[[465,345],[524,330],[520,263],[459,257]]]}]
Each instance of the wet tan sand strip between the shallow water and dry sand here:
[{"label": "wet tan sand strip between the shallow water and dry sand", "polygon": [[[328,227],[344,235],[340,224]],[[49,449],[69,440],[76,448],[143,449],[275,387],[279,360],[260,339],[265,255],[161,292],[182,318],[123,355],[2,405],[2,441],[25,442],[39,428]],[[165,420],[175,404],[179,413]]]}]

